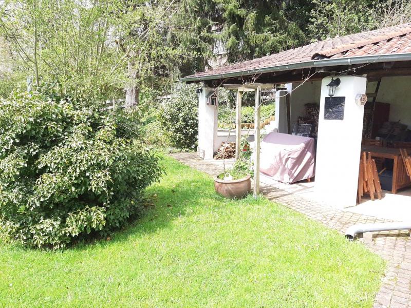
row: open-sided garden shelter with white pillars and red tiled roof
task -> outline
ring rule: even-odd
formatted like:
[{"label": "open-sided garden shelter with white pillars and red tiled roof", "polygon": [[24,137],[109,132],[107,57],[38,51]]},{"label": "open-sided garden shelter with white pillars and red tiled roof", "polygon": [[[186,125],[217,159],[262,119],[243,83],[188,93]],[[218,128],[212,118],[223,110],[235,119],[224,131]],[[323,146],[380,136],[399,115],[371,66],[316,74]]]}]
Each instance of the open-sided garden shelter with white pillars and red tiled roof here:
[{"label": "open-sided garden shelter with white pillars and red tiled roof", "polygon": [[[221,145],[217,136],[220,87],[237,92],[235,138],[238,157],[241,97],[244,92],[253,91],[254,196],[259,195],[260,183],[265,183],[352,213],[392,220],[410,214],[406,204],[411,201],[411,178],[407,180],[405,169],[398,189],[385,188],[381,200],[368,201],[365,195],[357,205],[360,156],[362,151],[369,152],[364,147],[367,142],[377,140],[381,148],[389,147],[390,151],[399,153],[394,143],[411,141],[411,136],[407,134],[411,127],[411,108],[408,105],[411,94],[407,86],[411,81],[411,54],[406,50],[398,52],[399,47],[393,44],[410,41],[408,33],[411,33],[411,28],[392,28],[395,29],[383,29],[387,33],[384,39],[381,31],[369,31],[362,33],[361,38],[365,34],[368,36],[366,40],[351,35],[352,43],[339,47],[335,46],[341,44],[342,38],[325,41],[334,47],[330,49],[324,49],[322,45],[315,50],[317,46],[311,45],[317,43],[305,46],[311,47],[307,50],[304,50],[305,47],[298,48],[302,50],[298,51],[301,59],[297,60],[295,54],[298,49],[291,50],[293,52],[288,62],[284,59],[290,51],[285,51],[283,55],[279,53],[184,78],[186,82],[199,82],[202,89],[199,95],[199,157],[211,160]],[[332,42],[334,40],[339,42]],[[391,43],[388,44],[389,48],[385,47],[387,42]],[[381,46],[385,48],[384,53],[370,51]],[[275,62],[280,55],[281,61],[277,59]],[[334,80],[339,83],[330,93],[329,85]],[[311,182],[281,183],[275,177],[260,172],[259,108],[262,89],[275,91],[275,133],[292,136],[294,125],[304,120],[306,105],[316,104],[319,107],[317,123],[313,124],[309,136],[315,140],[315,177]],[[210,104],[211,94],[215,95],[217,104]],[[397,124],[402,126],[401,136],[393,134],[398,130]],[[394,128],[384,132],[387,125]],[[378,161],[378,154],[376,156],[372,152],[371,156]],[[393,170],[387,163],[389,160],[385,159],[378,172],[390,171],[389,168]],[[394,170],[392,172],[395,173]],[[391,177],[395,179],[396,175],[392,174]]]}]

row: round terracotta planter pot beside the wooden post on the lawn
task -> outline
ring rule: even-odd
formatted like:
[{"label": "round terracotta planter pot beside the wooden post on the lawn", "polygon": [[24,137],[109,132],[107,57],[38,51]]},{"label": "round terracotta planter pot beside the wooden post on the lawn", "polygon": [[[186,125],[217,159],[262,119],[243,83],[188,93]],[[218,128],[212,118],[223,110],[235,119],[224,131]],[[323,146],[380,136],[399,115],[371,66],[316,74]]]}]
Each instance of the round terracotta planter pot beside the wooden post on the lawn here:
[{"label": "round terracotta planter pot beside the wooden post on the lawn", "polygon": [[251,177],[247,176],[239,180],[225,181],[214,178],[215,191],[226,198],[242,198],[251,191]]}]

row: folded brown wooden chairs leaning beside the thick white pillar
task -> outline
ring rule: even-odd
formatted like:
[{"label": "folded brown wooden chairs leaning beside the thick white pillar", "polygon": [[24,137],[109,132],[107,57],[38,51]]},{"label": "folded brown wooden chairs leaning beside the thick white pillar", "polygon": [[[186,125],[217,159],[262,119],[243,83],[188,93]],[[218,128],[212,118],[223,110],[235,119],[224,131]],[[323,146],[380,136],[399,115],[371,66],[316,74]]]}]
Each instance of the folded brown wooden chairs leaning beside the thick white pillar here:
[{"label": "folded brown wooden chairs leaning beside the thick white pillar", "polygon": [[357,202],[361,203],[364,194],[369,194],[371,200],[382,198],[382,189],[380,178],[378,177],[375,160],[371,158],[370,153],[363,152],[360,160],[360,174],[358,177],[358,195]]}]

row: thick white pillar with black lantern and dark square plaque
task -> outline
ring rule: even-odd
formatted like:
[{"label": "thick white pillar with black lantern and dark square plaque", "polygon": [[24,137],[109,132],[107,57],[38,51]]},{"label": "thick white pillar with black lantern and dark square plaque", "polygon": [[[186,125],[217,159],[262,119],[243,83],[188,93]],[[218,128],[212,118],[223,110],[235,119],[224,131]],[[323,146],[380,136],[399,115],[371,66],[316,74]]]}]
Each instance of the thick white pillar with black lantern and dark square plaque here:
[{"label": "thick white pillar with black lantern and dark square plaque", "polygon": [[324,119],[327,84],[324,78],[320,99],[320,119],[315,166],[315,194],[325,203],[344,208],[356,205],[364,106],[355,102],[365,94],[366,78],[341,76],[335,97],[345,97],[344,119]]}]

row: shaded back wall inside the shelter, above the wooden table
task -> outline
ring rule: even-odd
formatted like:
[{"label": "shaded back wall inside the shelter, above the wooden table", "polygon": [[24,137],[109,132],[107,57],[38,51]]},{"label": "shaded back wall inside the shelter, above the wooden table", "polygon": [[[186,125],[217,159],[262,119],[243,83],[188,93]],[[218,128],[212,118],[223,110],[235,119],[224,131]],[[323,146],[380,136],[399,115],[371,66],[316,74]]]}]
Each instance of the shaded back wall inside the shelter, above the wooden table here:
[{"label": "shaded back wall inside the shelter, above the wooden table", "polygon": [[401,120],[411,129],[411,76],[383,77],[377,102],[390,104],[389,121]]}]

